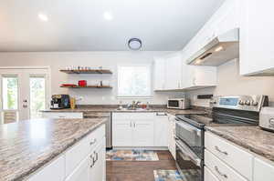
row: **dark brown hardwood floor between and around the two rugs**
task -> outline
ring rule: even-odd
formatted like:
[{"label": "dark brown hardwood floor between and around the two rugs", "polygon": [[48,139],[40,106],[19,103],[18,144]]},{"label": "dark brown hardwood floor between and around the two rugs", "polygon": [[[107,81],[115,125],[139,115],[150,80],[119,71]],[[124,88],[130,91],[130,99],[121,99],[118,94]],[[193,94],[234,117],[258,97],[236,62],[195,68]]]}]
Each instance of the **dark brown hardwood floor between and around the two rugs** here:
[{"label": "dark brown hardwood floor between and around the two rugs", "polygon": [[107,161],[107,181],[154,181],[153,170],[176,169],[168,151],[157,151],[159,161]]}]

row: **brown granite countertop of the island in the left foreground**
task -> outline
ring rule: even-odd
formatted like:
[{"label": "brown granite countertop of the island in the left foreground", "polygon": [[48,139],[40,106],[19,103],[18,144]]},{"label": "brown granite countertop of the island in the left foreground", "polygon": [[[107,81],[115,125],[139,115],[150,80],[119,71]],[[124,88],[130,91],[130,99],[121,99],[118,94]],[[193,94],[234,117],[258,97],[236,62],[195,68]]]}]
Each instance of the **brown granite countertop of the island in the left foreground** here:
[{"label": "brown granite countertop of the island in the left foreground", "polygon": [[26,180],[106,119],[33,119],[0,126],[0,180]]}]

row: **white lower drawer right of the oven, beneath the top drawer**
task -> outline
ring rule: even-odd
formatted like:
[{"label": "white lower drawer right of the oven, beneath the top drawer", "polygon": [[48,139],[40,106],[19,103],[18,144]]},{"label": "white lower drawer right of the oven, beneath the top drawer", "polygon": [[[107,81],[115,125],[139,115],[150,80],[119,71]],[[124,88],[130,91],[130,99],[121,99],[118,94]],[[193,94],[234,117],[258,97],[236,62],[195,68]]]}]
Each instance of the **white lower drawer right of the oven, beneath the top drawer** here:
[{"label": "white lower drawer right of the oven, beneath the top drawer", "polygon": [[220,180],[220,181],[248,181],[248,179],[240,176],[230,166],[227,166],[219,158],[205,149],[205,166]]}]

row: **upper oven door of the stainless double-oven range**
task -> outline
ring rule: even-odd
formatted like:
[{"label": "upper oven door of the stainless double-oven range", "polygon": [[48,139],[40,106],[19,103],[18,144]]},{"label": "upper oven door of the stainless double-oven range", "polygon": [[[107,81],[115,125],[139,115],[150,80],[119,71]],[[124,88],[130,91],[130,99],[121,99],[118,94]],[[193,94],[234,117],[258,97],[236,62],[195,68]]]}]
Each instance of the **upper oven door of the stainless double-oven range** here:
[{"label": "upper oven door of the stainless double-oven range", "polygon": [[204,130],[183,120],[176,120],[176,137],[188,146],[196,156],[204,158]]}]

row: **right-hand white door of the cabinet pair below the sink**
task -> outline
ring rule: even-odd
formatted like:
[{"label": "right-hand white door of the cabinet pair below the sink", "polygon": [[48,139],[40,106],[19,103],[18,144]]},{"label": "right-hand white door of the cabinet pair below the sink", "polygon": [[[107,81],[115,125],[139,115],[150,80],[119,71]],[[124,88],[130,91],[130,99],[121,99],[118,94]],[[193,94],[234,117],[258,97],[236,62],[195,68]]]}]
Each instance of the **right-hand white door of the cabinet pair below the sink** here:
[{"label": "right-hand white door of the cabinet pair below the sink", "polygon": [[153,120],[133,121],[132,146],[153,146]]}]

